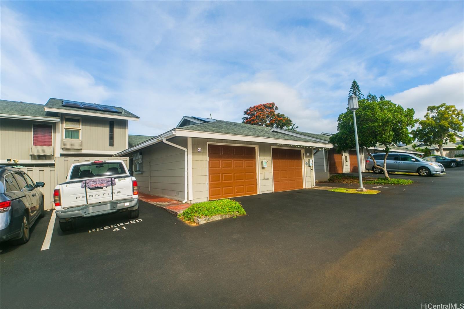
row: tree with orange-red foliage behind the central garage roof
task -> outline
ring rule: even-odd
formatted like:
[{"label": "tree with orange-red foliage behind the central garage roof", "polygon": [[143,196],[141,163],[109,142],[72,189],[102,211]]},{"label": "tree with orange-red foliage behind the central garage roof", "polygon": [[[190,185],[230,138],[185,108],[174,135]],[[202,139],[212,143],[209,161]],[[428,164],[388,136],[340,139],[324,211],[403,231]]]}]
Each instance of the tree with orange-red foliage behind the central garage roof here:
[{"label": "tree with orange-red foliage behind the central garage roof", "polygon": [[264,103],[250,106],[244,110],[243,114],[245,117],[242,118],[242,122],[278,129],[295,130],[298,128],[295,127],[295,123],[293,123],[289,117],[277,113],[277,109],[279,108],[276,103]]}]

